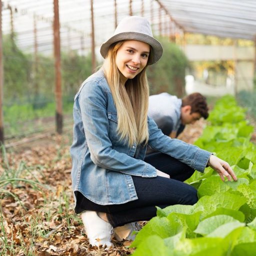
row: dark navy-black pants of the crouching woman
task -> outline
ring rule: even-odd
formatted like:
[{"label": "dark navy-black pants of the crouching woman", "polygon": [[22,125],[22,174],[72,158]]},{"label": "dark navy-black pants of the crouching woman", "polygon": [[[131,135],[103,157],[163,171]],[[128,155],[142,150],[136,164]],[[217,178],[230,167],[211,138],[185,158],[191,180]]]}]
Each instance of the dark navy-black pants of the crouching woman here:
[{"label": "dark navy-black pants of the crouching woman", "polygon": [[123,204],[99,205],[76,192],[75,211],[106,212],[110,224],[116,227],[133,221],[149,220],[156,215],[155,206],[164,208],[168,205],[192,205],[197,202],[196,189],[182,182],[193,174],[191,167],[161,152],[147,155],[144,161],[169,174],[170,178],[132,176],[138,199]]}]

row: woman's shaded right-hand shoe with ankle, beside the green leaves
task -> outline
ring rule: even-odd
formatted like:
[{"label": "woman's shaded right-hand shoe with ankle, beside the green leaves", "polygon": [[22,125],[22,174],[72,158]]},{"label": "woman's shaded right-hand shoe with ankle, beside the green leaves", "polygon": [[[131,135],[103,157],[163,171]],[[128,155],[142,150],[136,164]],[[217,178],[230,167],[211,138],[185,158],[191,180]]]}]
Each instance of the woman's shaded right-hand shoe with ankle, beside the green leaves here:
[{"label": "woman's shaded right-hand shoe with ankle, beside the green leaves", "polygon": [[114,237],[117,241],[134,240],[136,234],[133,231],[139,231],[141,229],[138,222],[131,222],[123,226],[117,226],[114,228]]}]

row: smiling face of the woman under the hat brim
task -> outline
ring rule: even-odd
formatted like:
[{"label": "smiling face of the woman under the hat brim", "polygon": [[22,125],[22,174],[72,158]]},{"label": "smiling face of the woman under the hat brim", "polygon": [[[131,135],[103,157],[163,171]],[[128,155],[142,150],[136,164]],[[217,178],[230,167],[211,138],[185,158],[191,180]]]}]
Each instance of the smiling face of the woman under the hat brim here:
[{"label": "smiling face of the woman under the hat brim", "polygon": [[146,65],[149,44],[136,40],[125,40],[116,52],[115,63],[124,82],[134,78]]}]

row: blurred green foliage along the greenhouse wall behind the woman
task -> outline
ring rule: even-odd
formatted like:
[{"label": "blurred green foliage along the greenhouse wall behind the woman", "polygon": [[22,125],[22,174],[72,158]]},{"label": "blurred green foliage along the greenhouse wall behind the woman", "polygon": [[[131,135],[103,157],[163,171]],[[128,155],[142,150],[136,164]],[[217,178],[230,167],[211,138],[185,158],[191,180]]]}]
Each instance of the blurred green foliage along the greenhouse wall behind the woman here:
[{"label": "blurred green foliage along the greenhouse wall behind the woman", "polygon": [[[164,38],[159,40],[164,49],[163,55],[147,70],[151,94],[166,91],[182,96],[188,60],[178,46]],[[15,43],[15,35],[13,37],[4,35],[3,57],[4,133],[5,135],[24,133],[24,130],[28,130],[28,121],[55,115],[54,59],[52,55],[40,53],[35,59],[33,54],[23,52]],[[64,114],[71,116],[73,97],[81,82],[90,74],[90,54],[81,56],[76,51],[61,52]],[[33,129],[32,123],[30,126],[29,132]],[[45,123],[44,126],[47,124]]]}]

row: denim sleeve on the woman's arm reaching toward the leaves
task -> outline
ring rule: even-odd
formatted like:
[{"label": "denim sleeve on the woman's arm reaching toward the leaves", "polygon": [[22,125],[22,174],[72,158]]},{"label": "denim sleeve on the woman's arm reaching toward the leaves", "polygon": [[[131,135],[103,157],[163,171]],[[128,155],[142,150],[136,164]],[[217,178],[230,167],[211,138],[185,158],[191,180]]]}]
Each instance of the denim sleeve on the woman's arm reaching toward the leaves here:
[{"label": "denim sleeve on the woman's arm reaching toward the leaves", "polygon": [[151,148],[166,153],[186,163],[193,169],[203,172],[211,155],[210,152],[182,140],[164,135],[150,117],[148,117],[148,129],[148,145]]}]

